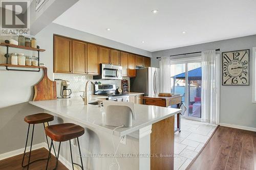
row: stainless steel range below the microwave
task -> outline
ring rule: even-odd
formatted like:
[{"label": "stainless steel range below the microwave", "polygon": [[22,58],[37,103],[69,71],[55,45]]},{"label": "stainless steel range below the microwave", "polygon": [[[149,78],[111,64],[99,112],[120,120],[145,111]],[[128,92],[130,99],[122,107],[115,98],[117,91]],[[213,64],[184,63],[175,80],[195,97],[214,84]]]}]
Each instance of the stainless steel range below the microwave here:
[{"label": "stainless steel range below the microwave", "polygon": [[129,102],[129,94],[116,93],[115,84],[94,84],[94,95],[106,95],[109,101]]}]

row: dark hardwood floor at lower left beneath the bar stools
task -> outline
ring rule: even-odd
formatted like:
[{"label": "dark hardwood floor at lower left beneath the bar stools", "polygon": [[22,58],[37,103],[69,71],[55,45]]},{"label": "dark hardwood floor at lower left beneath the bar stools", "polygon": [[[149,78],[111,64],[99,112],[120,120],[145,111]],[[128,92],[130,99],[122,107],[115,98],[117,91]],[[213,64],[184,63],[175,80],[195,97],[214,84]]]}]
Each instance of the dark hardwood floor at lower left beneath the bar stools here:
[{"label": "dark hardwood floor at lower left beneath the bar stools", "polygon": [[[45,148],[40,148],[38,150],[32,151],[31,154],[32,155],[31,155],[30,160],[33,161],[36,159],[47,158],[49,152]],[[24,167],[24,168],[22,167],[22,158],[23,158],[23,154],[20,154],[17,156],[13,156],[11,158],[0,160],[0,169],[1,170],[10,170],[10,169],[11,170],[25,170],[25,169],[27,169],[27,167]],[[28,162],[28,158],[25,158],[25,163],[27,164],[27,162]],[[36,161],[29,165],[29,169],[30,170],[42,170],[42,169],[45,170],[46,163],[47,163],[47,160]],[[49,161],[48,169],[53,169],[55,167],[55,163],[56,163],[56,159],[52,155],[52,157]],[[59,162],[58,169],[68,170],[68,168],[66,166],[64,166],[61,162]]]}]

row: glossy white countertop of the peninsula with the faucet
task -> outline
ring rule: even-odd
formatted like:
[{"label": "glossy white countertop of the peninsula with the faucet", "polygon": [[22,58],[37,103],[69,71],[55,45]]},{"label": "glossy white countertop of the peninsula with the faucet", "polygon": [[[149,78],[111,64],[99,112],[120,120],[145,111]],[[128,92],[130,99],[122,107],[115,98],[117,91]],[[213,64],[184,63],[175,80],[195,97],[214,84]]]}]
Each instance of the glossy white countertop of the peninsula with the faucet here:
[{"label": "glossy white countertop of the peninsula with the faucet", "polygon": [[[106,133],[112,134],[115,127],[104,125],[104,108],[97,105],[84,106],[80,98],[57,99],[51,101],[29,102],[32,105],[53,112],[57,115],[75,120],[89,128],[96,128]],[[135,105],[136,119],[133,120],[133,126],[129,128],[118,128],[114,134],[123,136],[135,132],[148,125],[152,125],[167,117],[179,113],[181,109],[165,108],[148,105]]]}]

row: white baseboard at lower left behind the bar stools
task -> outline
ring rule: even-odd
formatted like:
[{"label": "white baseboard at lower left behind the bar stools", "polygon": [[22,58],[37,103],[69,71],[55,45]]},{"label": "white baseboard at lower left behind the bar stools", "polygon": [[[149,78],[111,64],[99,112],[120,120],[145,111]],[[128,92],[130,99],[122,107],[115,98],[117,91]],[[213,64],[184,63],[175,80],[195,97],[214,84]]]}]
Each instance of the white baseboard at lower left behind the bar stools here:
[{"label": "white baseboard at lower left behind the bar stools", "polygon": [[[34,145],[32,145],[32,151],[40,149],[40,148],[43,148],[44,145],[45,145],[45,142],[34,144]],[[15,151],[7,152],[7,153],[4,153],[4,154],[0,154],[0,160],[6,159],[6,158],[10,158],[10,157],[13,157],[13,156],[16,156],[16,155],[19,155],[19,154],[23,154],[24,150],[25,150],[25,148],[22,148],[22,149],[18,149],[18,150],[15,150]],[[29,150],[30,150],[30,146],[27,147],[27,152]]]}]

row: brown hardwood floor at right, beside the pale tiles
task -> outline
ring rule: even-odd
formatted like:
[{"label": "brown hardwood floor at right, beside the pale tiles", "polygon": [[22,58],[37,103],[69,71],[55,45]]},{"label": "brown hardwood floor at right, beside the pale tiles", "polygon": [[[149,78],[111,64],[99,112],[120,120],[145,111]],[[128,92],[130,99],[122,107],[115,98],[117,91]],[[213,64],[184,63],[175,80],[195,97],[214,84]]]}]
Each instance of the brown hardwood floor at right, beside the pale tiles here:
[{"label": "brown hardwood floor at right, beside the pale tiles", "polygon": [[256,169],[256,132],[220,126],[187,169]]}]

